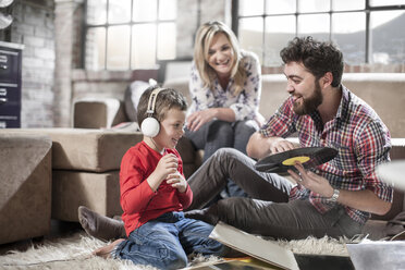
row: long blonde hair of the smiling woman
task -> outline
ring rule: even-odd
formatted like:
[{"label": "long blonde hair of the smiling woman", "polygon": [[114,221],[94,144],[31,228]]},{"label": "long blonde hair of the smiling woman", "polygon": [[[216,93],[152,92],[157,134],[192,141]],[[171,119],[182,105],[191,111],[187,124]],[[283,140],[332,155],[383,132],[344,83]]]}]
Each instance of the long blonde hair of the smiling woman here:
[{"label": "long blonde hair of the smiling woman", "polygon": [[204,87],[209,87],[212,90],[213,79],[216,78],[217,73],[208,64],[208,51],[213,37],[218,33],[222,33],[226,36],[235,56],[235,60],[231,70],[231,78],[234,78],[235,82],[235,90],[233,94],[237,96],[243,89],[246,79],[246,72],[243,68],[241,48],[236,36],[224,23],[212,21],[202,24],[198,28],[194,46],[194,61],[196,63],[197,71],[199,72],[199,75],[202,79]]}]

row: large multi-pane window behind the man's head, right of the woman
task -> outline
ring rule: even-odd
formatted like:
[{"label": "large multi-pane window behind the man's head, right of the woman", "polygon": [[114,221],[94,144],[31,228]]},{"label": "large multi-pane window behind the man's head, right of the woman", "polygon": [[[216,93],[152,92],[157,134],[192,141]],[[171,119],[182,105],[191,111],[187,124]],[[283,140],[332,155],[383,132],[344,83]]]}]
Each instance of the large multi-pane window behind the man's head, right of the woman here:
[{"label": "large multi-pane window behind the man's head, right of the woman", "polygon": [[405,63],[405,0],[233,0],[242,48],[279,66],[295,36],[332,40],[348,64]]}]

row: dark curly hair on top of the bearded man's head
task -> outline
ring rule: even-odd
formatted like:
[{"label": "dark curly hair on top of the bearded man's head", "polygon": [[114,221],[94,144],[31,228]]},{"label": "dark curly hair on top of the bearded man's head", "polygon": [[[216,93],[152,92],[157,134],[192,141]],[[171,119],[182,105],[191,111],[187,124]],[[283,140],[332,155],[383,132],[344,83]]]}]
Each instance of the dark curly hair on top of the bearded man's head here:
[{"label": "dark curly hair on top of the bearded man's head", "polygon": [[317,78],[322,77],[327,72],[333,75],[332,86],[341,85],[343,74],[343,54],[331,42],[321,42],[312,37],[295,37],[280,51],[284,63],[297,62]]}]

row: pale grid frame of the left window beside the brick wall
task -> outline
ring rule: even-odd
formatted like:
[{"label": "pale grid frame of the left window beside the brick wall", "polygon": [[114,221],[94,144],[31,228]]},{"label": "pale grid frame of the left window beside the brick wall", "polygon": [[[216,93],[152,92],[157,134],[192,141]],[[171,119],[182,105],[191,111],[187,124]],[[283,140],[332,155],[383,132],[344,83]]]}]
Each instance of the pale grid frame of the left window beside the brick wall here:
[{"label": "pale grid frame of the left window beside the brick wall", "polygon": [[[88,24],[87,23],[87,13],[88,13],[88,8],[87,8],[87,1],[88,0],[85,0],[84,2],[84,20],[83,20],[83,37],[82,37],[82,51],[83,51],[83,58],[82,58],[82,66],[84,70],[87,70],[87,66],[86,66],[86,36],[87,36],[87,33],[89,32],[89,29],[91,28],[97,28],[97,27],[102,27],[105,28],[105,32],[106,32],[106,40],[105,40],[105,63],[103,63],[103,66],[102,69],[100,68],[98,71],[118,71],[118,70],[111,70],[111,69],[108,69],[107,68],[107,64],[108,64],[108,29],[109,27],[111,26],[130,26],[130,61],[128,61],[128,66],[127,69],[122,69],[122,70],[119,70],[119,71],[132,71],[132,70],[136,70],[136,68],[132,68],[133,66],[133,59],[132,59],[132,54],[133,54],[133,26],[135,25],[143,25],[143,24],[154,24],[155,25],[155,28],[156,28],[156,36],[155,36],[155,41],[156,41],[156,48],[155,48],[155,64],[158,65],[159,64],[159,61],[162,61],[162,60],[159,60],[158,58],[158,41],[159,41],[159,34],[158,34],[158,27],[160,24],[162,23],[174,23],[174,25],[176,25],[176,17],[173,19],[173,20],[160,20],[159,19],[159,11],[160,11],[160,1],[161,0],[157,0],[157,10],[156,10],[156,20],[149,20],[149,21],[142,21],[142,22],[134,22],[133,21],[133,11],[134,11],[134,1],[135,0],[131,0],[131,20],[130,22],[126,22],[126,23],[109,23],[108,22],[108,14],[109,14],[109,8],[110,8],[110,0],[106,0],[107,3],[106,3],[106,15],[107,15],[107,20],[106,20],[106,23],[103,24]],[[152,66],[150,66],[151,69]],[[144,69],[144,68],[142,68]]]}]

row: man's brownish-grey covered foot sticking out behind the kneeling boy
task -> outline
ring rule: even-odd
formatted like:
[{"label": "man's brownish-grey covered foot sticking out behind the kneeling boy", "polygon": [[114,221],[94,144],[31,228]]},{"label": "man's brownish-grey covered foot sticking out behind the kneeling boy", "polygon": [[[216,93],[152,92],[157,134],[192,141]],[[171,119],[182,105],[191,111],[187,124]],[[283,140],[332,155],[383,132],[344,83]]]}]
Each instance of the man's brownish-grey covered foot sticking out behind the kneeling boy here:
[{"label": "man's brownish-grey covered foot sticking out behind the kneeling boy", "polygon": [[110,219],[91,211],[87,207],[78,207],[78,221],[87,234],[103,241],[126,237],[124,222]]}]

